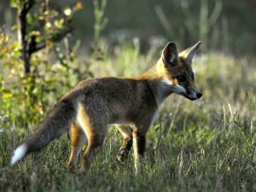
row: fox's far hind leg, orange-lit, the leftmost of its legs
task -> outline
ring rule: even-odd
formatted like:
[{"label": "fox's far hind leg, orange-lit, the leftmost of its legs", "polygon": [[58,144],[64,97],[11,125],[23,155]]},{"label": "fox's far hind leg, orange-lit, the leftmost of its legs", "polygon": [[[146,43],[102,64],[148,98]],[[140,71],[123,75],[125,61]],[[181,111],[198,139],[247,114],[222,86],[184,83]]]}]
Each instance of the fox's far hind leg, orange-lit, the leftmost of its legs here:
[{"label": "fox's far hind leg, orange-lit, the leftmost of its legs", "polygon": [[81,129],[79,124],[73,123],[69,130],[70,138],[71,138],[71,149],[70,149],[70,157],[67,163],[67,166],[71,168],[73,164],[76,163],[77,158],[86,142],[86,137],[84,131]]}]

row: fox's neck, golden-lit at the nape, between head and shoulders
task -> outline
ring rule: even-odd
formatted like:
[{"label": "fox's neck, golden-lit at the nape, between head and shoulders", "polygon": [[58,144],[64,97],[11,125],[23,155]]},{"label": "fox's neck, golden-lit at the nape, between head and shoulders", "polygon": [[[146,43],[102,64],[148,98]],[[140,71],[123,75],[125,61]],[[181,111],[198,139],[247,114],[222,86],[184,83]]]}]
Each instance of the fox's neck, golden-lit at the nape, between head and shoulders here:
[{"label": "fox's neck, golden-lit at the nape, between head and shoulders", "polygon": [[160,63],[151,67],[148,71],[138,76],[137,80],[146,80],[151,90],[154,92],[155,100],[160,104],[166,99],[167,96],[170,96],[175,87],[168,81],[160,72]]}]

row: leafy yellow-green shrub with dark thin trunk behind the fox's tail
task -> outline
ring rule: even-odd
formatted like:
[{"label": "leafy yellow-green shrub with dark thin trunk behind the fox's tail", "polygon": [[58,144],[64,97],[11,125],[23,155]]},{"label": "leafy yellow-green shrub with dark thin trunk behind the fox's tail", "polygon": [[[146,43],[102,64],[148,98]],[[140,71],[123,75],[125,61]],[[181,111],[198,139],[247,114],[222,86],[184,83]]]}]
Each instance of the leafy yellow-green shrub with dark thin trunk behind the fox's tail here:
[{"label": "leafy yellow-green shrub with dark thin trunk behind the fox's tail", "polygon": [[[73,48],[66,37],[73,30],[73,14],[83,6],[79,2],[73,8],[62,10],[49,1],[36,3],[31,0],[13,0],[11,6],[18,12],[19,19],[13,27],[18,38],[16,40],[14,36],[0,32],[0,60],[3,65],[0,113],[9,114],[11,119],[20,119],[26,124],[38,121],[47,106],[55,102],[51,94],[60,94],[56,100],[81,77],[91,75],[90,63],[84,65],[84,71],[79,70],[75,53],[77,46]],[[53,56],[56,56],[55,63],[51,59]],[[14,110],[17,106],[19,110]]]}]

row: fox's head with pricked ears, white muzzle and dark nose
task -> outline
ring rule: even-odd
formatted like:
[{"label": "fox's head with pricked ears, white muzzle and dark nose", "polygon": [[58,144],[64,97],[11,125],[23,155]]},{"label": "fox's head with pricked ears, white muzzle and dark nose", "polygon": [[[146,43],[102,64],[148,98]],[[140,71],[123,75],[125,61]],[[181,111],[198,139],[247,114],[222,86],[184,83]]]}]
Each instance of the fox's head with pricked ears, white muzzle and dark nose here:
[{"label": "fox's head with pricked ears, white muzzle and dark nose", "polygon": [[161,81],[172,88],[173,93],[184,96],[189,100],[199,99],[202,94],[195,85],[192,60],[201,42],[177,53],[177,46],[173,42],[166,44],[162,51],[157,71]]}]

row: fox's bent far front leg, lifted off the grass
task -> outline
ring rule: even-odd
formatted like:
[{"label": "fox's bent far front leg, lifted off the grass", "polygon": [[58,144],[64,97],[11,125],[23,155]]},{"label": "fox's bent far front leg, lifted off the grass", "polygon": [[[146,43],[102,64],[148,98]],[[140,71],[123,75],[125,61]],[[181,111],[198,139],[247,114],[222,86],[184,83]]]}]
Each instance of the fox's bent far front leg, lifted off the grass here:
[{"label": "fox's bent far front leg, lifted off the grass", "polygon": [[117,154],[117,159],[119,162],[124,163],[132,146],[132,129],[129,125],[117,125],[117,129],[125,138],[121,148],[119,149],[119,153]]}]

